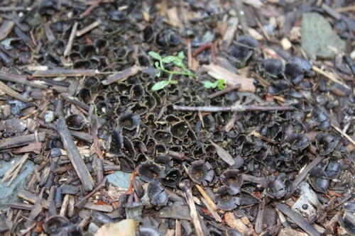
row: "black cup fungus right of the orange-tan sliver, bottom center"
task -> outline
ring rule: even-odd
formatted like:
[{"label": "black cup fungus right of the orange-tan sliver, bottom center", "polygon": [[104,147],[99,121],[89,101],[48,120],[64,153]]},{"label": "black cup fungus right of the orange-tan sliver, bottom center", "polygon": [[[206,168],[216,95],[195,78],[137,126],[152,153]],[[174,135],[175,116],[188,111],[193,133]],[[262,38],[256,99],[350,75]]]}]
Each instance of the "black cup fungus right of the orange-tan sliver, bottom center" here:
[{"label": "black cup fungus right of the orange-tan sliver, bottom center", "polygon": [[241,203],[240,198],[234,196],[226,186],[218,189],[215,201],[217,202],[217,208],[220,210],[234,210]]}]

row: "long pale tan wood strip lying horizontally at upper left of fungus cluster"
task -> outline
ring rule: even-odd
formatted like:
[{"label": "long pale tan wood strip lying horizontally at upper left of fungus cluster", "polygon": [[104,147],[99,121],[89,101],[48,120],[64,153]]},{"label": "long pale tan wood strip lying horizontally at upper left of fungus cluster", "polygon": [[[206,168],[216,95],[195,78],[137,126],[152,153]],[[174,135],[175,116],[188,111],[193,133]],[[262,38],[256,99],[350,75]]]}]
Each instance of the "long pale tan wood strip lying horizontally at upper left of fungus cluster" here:
[{"label": "long pale tan wood strip lying horizontally at upper left of fungus cluster", "polygon": [[33,77],[94,77],[95,69],[48,69],[36,70]]}]

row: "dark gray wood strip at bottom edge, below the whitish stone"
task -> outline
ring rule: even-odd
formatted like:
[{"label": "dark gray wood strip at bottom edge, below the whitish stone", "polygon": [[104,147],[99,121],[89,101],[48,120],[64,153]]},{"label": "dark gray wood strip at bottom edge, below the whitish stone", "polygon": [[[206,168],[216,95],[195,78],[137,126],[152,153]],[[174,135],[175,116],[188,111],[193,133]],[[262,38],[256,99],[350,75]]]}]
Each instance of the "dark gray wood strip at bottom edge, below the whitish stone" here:
[{"label": "dark gray wood strip at bottom edge, below the whitish stone", "polygon": [[278,210],[283,214],[287,215],[291,220],[293,220],[302,230],[305,230],[311,236],[320,236],[320,233],[311,225],[305,218],[298,215],[294,210],[288,208],[283,203],[275,203]]}]

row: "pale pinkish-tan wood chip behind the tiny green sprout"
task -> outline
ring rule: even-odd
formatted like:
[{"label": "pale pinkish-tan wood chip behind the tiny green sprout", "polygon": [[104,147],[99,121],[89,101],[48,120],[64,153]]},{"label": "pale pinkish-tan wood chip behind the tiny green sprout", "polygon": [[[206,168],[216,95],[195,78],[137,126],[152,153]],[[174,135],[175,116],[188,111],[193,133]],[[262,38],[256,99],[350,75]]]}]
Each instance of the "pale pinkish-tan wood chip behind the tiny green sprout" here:
[{"label": "pale pinkish-tan wood chip behind the tiny green sprout", "polygon": [[224,67],[220,67],[217,64],[204,64],[202,66],[203,69],[206,69],[208,74],[214,79],[224,79],[226,84],[230,85],[237,85],[240,84],[241,88],[239,89],[240,91],[249,91],[251,93],[255,93],[256,87],[253,84],[254,81],[253,79],[249,79],[246,77],[242,77],[239,74],[234,74],[233,72],[230,72],[228,69],[225,69]]}]

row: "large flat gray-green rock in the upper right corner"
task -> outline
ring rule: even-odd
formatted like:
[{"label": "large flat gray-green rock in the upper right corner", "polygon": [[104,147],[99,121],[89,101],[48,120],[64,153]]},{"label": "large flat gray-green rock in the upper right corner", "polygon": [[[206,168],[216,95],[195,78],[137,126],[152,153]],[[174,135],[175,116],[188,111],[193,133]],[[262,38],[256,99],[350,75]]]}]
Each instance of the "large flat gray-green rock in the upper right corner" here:
[{"label": "large flat gray-green rock in the upper right corner", "polygon": [[302,14],[302,49],[308,56],[318,59],[330,60],[335,57],[335,52],[329,47],[337,48],[344,52],[345,43],[334,33],[332,26],[318,13]]}]

